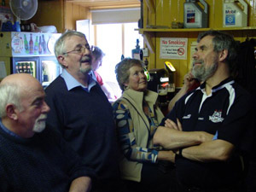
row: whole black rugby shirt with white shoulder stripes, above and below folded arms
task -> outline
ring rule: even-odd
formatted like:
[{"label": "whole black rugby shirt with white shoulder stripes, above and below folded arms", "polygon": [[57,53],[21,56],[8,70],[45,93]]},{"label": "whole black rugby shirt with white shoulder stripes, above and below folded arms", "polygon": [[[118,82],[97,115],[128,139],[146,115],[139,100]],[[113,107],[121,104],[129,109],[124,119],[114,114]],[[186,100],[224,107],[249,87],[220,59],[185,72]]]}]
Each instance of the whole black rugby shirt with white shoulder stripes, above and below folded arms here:
[{"label": "whole black rugby shirt with white shoulder stripes, above and below folded arms", "polygon": [[[205,86],[201,84],[183,96],[166,118],[175,122],[179,119],[183,131],[206,131],[214,139],[233,143],[236,154],[248,151],[253,139],[251,96],[233,79],[225,79],[213,87],[209,96]],[[165,125],[165,119],[160,125]],[[177,156],[175,163],[177,181],[183,186],[218,189],[238,182],[241,177],[241,160],[235,154],[227,162],[202,163]]]}]

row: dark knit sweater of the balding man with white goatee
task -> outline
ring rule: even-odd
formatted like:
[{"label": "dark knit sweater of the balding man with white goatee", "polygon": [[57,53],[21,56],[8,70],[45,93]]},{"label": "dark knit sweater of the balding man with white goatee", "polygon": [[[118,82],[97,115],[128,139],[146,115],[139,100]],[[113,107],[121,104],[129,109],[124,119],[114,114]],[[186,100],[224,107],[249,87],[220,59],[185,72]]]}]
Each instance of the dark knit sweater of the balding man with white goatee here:
[{"label": "dark knit sweater of the balding man with white goatee", "polygon": [[0,146],[1,192],[64,192],[74,178],[94,173],[49,129],[23,139],[0,128]]}]

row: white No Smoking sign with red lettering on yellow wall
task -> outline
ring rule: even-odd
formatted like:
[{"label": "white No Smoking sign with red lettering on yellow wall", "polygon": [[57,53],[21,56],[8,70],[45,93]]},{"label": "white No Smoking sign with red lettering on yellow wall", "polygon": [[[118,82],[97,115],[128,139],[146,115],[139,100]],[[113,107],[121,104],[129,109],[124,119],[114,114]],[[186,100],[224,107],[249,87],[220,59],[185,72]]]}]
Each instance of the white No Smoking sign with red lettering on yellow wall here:
[{"label": "white No Smoking sign with red lettering on yellow wall", "polygon": [[187,60],[188,38],[160,38],[160,59]]}]

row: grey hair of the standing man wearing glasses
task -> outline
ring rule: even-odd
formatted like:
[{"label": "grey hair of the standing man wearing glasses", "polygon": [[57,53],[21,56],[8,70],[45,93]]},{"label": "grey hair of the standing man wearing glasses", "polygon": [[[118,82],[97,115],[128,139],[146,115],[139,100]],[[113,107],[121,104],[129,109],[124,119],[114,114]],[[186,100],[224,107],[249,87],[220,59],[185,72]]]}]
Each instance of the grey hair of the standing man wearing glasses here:
[{"label": "grey hair of the standing man wearing glasses", "polygon": [[[65,47],[65,42],[67,40],[67,38],[73,37],[73,36],[79,36],[81,38],[85,38],[84,33],[82,32],[76,32],[76,31],[67,31],[62,33],[61,37],[57,39],[57,41],[55,42],[55,57],[58,58],[59,55],[63,55],[63,53],[65,53],[66,47]],[[61,65],[61,67],[63,67]]]}]

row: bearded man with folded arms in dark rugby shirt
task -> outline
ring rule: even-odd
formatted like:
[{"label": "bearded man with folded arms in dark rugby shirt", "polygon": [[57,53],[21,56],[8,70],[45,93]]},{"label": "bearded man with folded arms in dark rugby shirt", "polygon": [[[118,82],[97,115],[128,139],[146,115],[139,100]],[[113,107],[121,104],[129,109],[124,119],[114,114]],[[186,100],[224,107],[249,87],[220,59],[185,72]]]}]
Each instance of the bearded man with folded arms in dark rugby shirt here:
[{"label": "bearded man with folded arms in dark rugby shirt", "polygon": [[222,32],[198,38],[192,73],[203,83],[183,96],[154,134],[175,154],[178,191],[244,191],[253,136],[252,97],[232,79],[236,42]]}]

